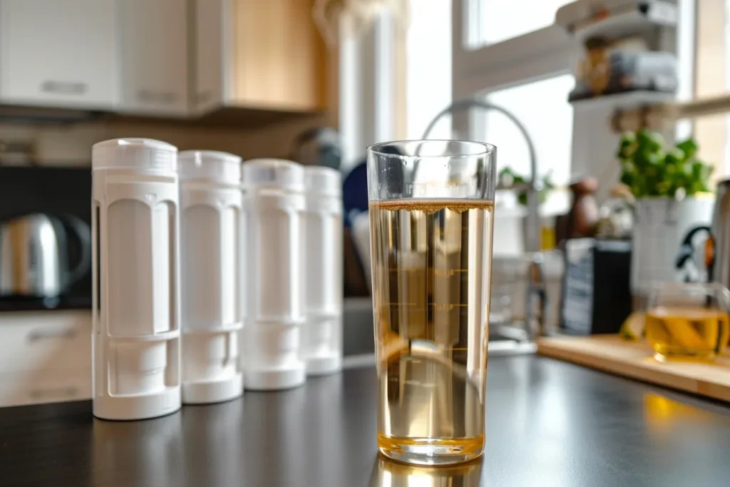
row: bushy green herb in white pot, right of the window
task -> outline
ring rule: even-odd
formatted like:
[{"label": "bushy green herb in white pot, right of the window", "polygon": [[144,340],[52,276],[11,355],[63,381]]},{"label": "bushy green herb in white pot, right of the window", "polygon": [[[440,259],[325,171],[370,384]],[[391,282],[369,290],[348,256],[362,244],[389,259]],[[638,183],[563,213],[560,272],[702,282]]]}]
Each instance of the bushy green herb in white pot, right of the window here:
[{"label": "bushy green herb in white pot, right of the window", "polygon": [[698,157],[694,139],[668,145],[661,134],[641,129],[618,145],[621,183],[636,198],[631,288],[645,294],[652,283],[675,280],[675,258],[691,227],[709,224],[714,196],[712,166]]}]

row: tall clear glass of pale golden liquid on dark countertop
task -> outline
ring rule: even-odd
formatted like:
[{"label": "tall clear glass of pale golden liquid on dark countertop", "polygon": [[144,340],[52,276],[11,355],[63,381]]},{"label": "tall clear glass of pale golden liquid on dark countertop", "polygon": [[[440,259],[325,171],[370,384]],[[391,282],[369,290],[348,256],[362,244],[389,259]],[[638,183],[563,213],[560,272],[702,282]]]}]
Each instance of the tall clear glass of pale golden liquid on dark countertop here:
[{"label": "tall clear glass of pale golden liquid on dark countertop", "polygon": [[496,147],[368,147],[378,447],[442,465],[484,448]]}]

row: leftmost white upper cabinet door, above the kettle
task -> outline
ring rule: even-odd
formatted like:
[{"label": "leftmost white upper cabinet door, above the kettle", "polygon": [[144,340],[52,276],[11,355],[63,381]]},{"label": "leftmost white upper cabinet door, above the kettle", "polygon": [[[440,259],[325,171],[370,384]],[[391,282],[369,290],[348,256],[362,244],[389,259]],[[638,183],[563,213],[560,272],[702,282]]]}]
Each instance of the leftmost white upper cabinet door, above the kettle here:
[{"label": "leftmost white upper cabinet door, above the kettle", "polygon": [[115,0],[0,0],[0,103],[109,110]]}]

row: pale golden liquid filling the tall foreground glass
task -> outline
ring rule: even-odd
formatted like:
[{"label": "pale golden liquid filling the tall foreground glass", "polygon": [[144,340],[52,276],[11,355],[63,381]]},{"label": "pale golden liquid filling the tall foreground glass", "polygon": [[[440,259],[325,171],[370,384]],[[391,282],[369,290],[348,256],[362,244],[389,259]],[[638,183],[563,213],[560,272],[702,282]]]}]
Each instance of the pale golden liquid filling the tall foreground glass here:
[{"label": "pale golden liquid filling the tall foreground glass", "polygon": [[484,446],[493,204],[370,206],[378,445],[416,464],[468,461]]}]

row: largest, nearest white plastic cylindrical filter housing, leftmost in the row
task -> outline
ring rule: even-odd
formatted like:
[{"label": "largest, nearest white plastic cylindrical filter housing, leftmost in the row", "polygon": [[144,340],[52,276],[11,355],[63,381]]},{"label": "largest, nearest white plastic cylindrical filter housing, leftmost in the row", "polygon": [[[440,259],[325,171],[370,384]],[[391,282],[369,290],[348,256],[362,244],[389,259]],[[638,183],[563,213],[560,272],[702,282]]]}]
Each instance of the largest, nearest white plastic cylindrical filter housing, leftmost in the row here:
[{"label": "largest, nearest white plastic cylindrical filter housing, leftmost in the row", "polygon": [[177,148],[113,139],[92,149],[93,414],[180,409]]}]

